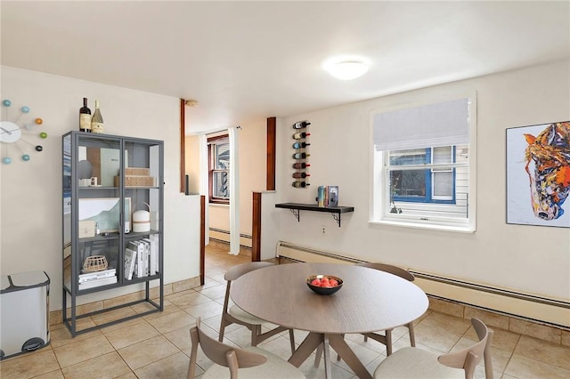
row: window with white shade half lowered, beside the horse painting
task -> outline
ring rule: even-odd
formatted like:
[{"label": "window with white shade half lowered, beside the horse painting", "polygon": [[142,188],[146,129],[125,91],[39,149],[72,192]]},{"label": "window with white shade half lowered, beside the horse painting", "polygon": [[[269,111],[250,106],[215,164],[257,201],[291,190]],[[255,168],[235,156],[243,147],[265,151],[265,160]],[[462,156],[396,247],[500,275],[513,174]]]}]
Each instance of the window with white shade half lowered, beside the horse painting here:
[{"label": "window with white shade half lowered, beside the horse painting", "polygon": [[473,109],[460,99],[373,115],[371,222],[475,230]]}]

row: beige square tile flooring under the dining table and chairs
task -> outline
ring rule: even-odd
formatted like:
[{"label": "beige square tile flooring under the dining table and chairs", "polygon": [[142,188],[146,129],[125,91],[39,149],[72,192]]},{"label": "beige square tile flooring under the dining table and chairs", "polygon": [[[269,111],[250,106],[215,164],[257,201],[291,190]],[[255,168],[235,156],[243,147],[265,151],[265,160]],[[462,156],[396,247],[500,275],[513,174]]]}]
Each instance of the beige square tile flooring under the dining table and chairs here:
[{"label": "beige square tile flooring under the dining table and chairs", "polygon": [[[189,328],[196,317],[202,319],[210,335],[217,335],[224,301],[224,271],[232,265],[247,262],[243,254],[233,256],[226,250],[208,248],[206,285],[167,295],[165,310],[141,319],[133,319],[71,338],[61,325],[51,328],[51,343],[38,351],[0,362],[0,377],[8,378],[185,378],[191,341]],[[143,304],[114,314],[85,319],[88,325],[101,324],[110,317],[142,310]],[[434,310],[416,322],[418,346],[437,353],[461,349],[476,339],[467,319]],[[526,335],[494,328],[493,371],[496,378],[570,378],[570,347],[548,343]],[[232,325],[226,329],[224,342],[248,346],[249,332]],[[296,331],[300,343],[305,332]],[[360,335],[346,339],[371,373],[386,357],[380,343],[363,342]],[[395,350],[410,345],[405,327],[394,331]],[[288,334],[276,335],[260,344],[284,358],[288,357]],[[332,353],[333,359],[336,354]],[[307,359],[300,367],[307,378],[323,378],[324,365],[313,366]],[[211,363],[199,351],[199,367]],[[334,360],[334,378],[355,378],[344,362]],[[203,370],[197,369],[197,375]],[[199,376],[197,376],[199,377]],[[485,377],[484,367],[477,367],[476,377]]]}]

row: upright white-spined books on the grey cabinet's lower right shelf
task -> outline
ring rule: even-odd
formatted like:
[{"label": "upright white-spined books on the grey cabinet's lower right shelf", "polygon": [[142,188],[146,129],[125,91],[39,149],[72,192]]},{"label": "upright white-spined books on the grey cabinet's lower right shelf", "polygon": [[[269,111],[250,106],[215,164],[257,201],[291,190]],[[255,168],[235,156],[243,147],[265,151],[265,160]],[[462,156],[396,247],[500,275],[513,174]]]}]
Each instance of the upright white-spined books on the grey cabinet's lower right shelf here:
[{"label": "upright white-spined books on the grey cabinet's lower right shelf", "polygon": [[131,241],[125,249],[125,278],[143,278],[159,272],[158,236]]}]

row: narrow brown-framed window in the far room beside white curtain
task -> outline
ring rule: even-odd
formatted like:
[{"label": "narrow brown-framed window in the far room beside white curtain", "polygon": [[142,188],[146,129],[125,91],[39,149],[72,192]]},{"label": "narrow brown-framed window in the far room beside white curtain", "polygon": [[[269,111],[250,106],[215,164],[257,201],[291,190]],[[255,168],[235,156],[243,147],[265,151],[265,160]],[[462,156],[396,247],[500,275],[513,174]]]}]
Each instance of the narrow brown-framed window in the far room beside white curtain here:
[{"label": "narrow brown-framed window in the far room beside white curtain", "polygon": [[230,141],[228,134],[208,138],[209,202],[230,203]]}]

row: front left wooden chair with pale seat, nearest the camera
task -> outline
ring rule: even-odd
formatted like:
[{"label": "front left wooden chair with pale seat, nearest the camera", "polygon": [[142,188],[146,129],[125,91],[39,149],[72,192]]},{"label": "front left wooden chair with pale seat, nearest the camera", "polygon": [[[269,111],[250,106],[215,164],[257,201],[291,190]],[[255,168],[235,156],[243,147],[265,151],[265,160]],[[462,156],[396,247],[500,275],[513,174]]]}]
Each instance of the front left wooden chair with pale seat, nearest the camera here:
[{"label": "front left wooden chair with pale seat, nearest the camera", "polygon": [[[202,379],[231,378],[292,378],[301,379],[305,375],[288,361],[256,347],[247,349],[235,348],[224,343],[217,342],[214,338],[206,335],[200,328],[200,319],[196,319],[196,327],[190,329],[192,341],[190,365],[188,366],[188,379],[196,375],[196,360],[198,358],[198,345],[204,351],[208,359],[214,362],[209,367]],[[229,369],[228,369],[229,368]],[[277,376],[275,376],[277,373]]]}]

